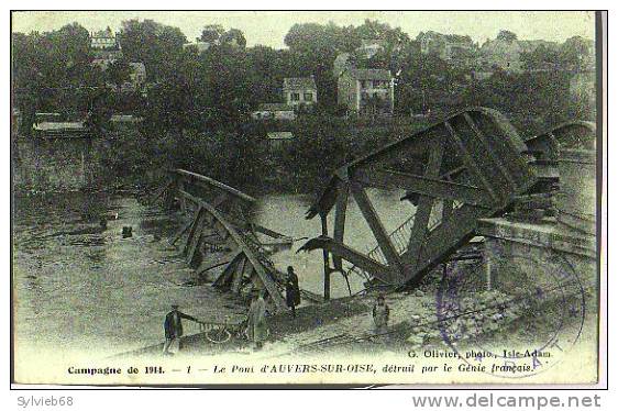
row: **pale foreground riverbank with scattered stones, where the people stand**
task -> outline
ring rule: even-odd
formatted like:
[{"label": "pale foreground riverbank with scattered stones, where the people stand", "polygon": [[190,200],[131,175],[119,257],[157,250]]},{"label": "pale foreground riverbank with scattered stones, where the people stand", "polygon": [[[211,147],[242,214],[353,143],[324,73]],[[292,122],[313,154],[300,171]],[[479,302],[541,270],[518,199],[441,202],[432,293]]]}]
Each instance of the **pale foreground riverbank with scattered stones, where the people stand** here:
[{"label": "pale foreground riverbank with scattered stones, where the people stand", "polygon": [[[174,358],[251,355],[253,360],[377,353],[408,356],[409,353],[434,349],[453,355],[498,348],[500,353],[516,348],[558,351],[553,345],[556,323],[560,323],[562,335],[575,337],[575,341],[563,343],[576,343],[584,349],[595,343],[594,309],[584,319],[561,316],[555,315],[564,310],[561,301],[548,301],[541,311],[527,311],[520,302],[501,292],[475,291],[466,297],[475,298],[471,302],[477,308],[475,311],[466,311],[470,309],[466,307],[467,314],[449,316],[439,304],[439,282],[434,277],[420,289],[387,295],[390,319],[385,334],[376,334],[374,330],[371,313],[375,295],[366,295],[306,306],[297,310],[297,318],[290,313],[267,318],[269,337],[260,351],[242,336],[232,335],[229,341],[216,344],[205,333],[196,333],[183,338],[183,349]],[[500,308],[501,303],[506,303],[506,310]],[[473,322],[479,326],[462,327],[462,324]],[[157,357],[162,355],[162,348],[163,343],[120,357]],[[564,345],[560,349],[571,349],[571,346]]]}]

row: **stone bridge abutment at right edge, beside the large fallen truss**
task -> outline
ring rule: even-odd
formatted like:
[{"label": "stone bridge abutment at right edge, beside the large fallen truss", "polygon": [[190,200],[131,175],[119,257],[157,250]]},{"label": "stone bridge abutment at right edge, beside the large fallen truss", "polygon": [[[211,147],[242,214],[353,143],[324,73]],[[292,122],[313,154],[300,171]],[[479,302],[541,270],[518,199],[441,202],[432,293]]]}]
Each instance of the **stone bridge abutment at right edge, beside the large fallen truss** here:
[{"label": "stone bridge abutment at right edge, beside the large fallen truss", "polygon": [[522,281],[549,281],[543,277],[565,273],[584,287],[597,286],[596,130],[571,123],[531,138],[529,146],[538,149],[542,140],[542,166],[558,181],[549,203],[541,209],[529,199],[527,208],[478,221],[487,288],[512,292]]}]

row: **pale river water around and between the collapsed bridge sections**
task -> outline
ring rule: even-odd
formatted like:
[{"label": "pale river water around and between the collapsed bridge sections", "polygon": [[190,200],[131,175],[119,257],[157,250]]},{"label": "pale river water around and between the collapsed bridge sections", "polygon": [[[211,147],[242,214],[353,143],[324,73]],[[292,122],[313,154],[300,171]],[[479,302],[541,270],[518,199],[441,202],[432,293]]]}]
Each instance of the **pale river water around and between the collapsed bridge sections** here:
[{"label": "pale river water around and between the collapsed bridge sections", "polygon": [[[413,212],[401,192],[368,192],[384,225],[394,230]],[[295,238],[320,234],[319,219],[306,220],[312,198],[273,195],[258,199],[256,222]],[[353,201],[347,208],[346,242],[361,251],[373,235]],[[108,226],[98,229],[99,215]],[[178,220],[132,196],[54,195],[18,198],[13,219],[14,331],[18,355],[41,348],[99,352],[104,355],[163,340],[169,304],[203,320],[230,319],[245,308],[210,286],[188,287],[178,251],[165,236]],[[177,216],[176,216],[177,218]],[[332,227],[332,221],[329,222]],[[122,227],[133,227],[123,238]],[[161,238],[163,237],[163,238]],[[274,255],[282,270],[293,265],[300,287],[322,292],[322,253],[296,254],[304,241]],[[353,291],[362,282],[351,277]],[[343,278],[332,276],[332,296],[349,295]],[[187,333],[197,332],[191,323]],[[58,353],[59,353],[58,352]]]}]

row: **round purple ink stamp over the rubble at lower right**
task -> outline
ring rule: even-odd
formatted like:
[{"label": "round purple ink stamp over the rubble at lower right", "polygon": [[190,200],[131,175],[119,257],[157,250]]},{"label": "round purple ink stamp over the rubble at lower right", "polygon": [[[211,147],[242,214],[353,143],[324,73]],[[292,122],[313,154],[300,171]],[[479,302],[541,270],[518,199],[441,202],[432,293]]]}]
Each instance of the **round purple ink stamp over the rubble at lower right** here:
[{"label": "round purple ink stamp over the rubble at lower right", "polygon": [[485,284],[466,264],[444,269],[435,295],[442,341],[464,362],[464,371],[505,378],[543,373],[580,340],[585,287],[560,254],[510,255],[492,264],[499,276]]}]

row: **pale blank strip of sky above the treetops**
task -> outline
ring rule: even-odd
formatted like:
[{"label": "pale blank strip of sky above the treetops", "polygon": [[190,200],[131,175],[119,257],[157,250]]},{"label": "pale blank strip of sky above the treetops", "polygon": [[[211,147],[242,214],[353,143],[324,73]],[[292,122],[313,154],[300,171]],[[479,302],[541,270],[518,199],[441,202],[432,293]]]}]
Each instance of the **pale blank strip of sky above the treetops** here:
[{"label": "pale blank strip of sky above the treetops", "polygon": [[295,23],[328,23],[361,25],[365,19],[378,20],[401,30],[411,38],[421,31],[433,30],[444,34],[470,35],[483,43],[495,38],[500,30],[515,32],[520,40],[547,40],[563,42],[574,35],[595,38],[594,12],[573,11],[493,11],[493,12],[198,12],[198,11],[33,11],[13,12],[12,31],[30,33],[57,30],[78,22],[89,31],[108,25],[114,31],[130,19],[152,19],[179,27],[189,41],[194,41],[207,24],[221,24],[225,29],[240,29],[247,46],[262,44],[274,48],[285,47],[284,37]]}]

